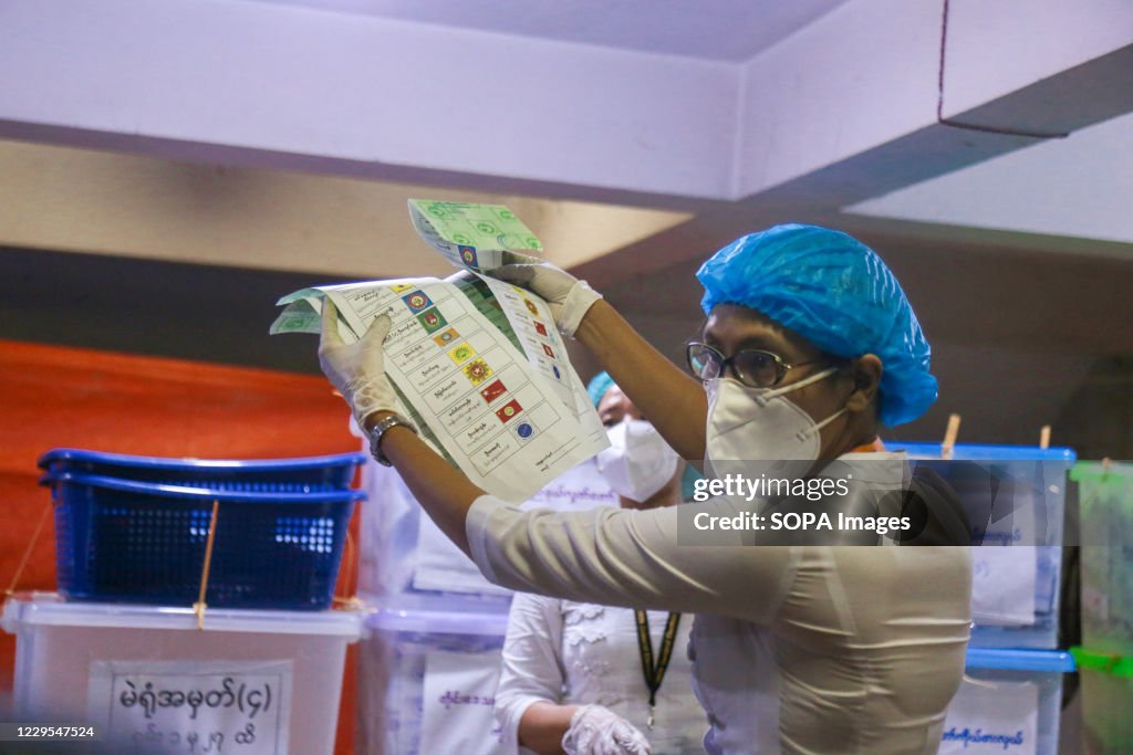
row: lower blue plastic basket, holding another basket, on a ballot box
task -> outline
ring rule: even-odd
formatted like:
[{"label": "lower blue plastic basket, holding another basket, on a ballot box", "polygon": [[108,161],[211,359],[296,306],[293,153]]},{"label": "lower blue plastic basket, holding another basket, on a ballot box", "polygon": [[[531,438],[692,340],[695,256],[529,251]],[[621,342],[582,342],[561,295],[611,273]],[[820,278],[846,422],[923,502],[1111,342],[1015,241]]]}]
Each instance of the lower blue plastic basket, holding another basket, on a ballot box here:
[{"label": "lower blue plastic basket, holding another basket, on a ballot box", "polygon": [[216,533],[205,602],[318,610],[331,604],[359,490],[249,492],[49,473],[59,592],[73,600],[190,604],[201,589],[213,501]]}]

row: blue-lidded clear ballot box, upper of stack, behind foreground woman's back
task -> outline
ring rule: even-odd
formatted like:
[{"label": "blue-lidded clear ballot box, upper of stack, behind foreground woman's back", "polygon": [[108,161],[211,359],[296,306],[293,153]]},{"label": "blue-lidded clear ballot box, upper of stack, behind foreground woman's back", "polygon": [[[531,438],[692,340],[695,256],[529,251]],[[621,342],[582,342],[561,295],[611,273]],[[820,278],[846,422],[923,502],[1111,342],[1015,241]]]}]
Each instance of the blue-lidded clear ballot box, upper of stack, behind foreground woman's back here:
[{"label": "blue-lidded clear ballot box, upper of stack, behind foreground woman's back", "polygon": [[974,647],[1058,646],[1068,448],[889,443],[955,489],[972,525]]}]

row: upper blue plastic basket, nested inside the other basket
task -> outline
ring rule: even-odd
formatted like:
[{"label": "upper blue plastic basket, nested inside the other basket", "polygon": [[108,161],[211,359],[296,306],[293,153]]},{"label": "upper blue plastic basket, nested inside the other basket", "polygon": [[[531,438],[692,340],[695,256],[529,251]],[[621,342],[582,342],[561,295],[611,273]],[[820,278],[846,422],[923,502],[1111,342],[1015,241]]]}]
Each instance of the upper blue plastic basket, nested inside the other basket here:
[{"label": "upper blue plastic basket, nested inside the other basket", "polygon": [[245,492],[330,492],[347,490],[363,454],[299,458],[210,460],[107,454],[54,448],[40,457],[49,478],[61,473],[160,482]]}]

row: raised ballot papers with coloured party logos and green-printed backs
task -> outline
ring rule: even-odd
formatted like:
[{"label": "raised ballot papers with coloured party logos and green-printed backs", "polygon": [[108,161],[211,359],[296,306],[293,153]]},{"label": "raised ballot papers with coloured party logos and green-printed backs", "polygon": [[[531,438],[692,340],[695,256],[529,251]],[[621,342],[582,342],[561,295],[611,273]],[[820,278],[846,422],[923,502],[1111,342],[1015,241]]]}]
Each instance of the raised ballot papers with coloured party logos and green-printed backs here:
[{"label": "raised ballot papers with coloured party logos and green-printed backs", "polygon": [[461,272],[303,289],[276,302],[271,333],[318,333],[323,300],[357,341],[374,318],[393,324],[385,368],[394,407],[476,484],[520,503],[607,446],[606,434],[555,329],[530,291],[480,275],[504,250],[538,251],[505,207],[410,200],[414,228]]}]

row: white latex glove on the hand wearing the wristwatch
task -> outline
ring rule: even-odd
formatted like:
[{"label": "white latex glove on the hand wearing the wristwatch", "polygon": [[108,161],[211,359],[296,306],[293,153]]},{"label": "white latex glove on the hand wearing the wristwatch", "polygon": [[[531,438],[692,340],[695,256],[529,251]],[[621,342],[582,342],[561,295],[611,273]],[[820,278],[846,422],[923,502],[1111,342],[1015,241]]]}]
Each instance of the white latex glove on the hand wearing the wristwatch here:
[{"label": "white latex glove on the hand wearing the wristwatch", "polygon": [[323,333],[318,340],[318,366],[339,389],[358,427],[377,411],[394,411],[398,394],[385,377],[382,342],[390,333],[386,315],[374,318],[369,329],[356,343],[343,343],[339,335],[338,310],[330,299],[323,299]]}]

